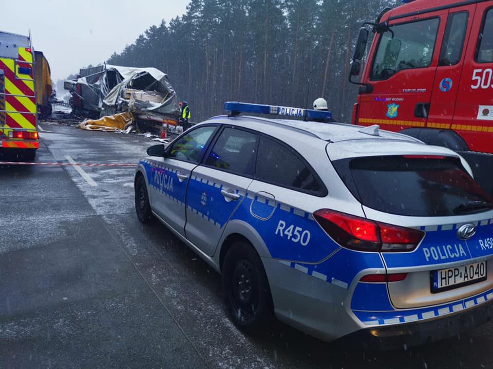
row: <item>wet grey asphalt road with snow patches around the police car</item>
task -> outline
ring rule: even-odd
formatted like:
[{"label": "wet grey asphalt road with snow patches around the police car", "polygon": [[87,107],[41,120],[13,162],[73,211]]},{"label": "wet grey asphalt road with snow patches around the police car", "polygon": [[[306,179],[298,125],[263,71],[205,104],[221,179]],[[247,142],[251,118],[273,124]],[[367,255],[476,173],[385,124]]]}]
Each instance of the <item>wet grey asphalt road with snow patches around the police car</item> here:
[{"label": "wet grey asphalt road with snow patches around the police car", "polygon": [[[40,125],[40,162],[136,163],[154,144]],[[219,275],[157,222],[138,222],[134,170],[83,170],[0,168],[2,369],[493,367],[493,323],[384,353],[279,322],[244,335],[225,316]]]}]

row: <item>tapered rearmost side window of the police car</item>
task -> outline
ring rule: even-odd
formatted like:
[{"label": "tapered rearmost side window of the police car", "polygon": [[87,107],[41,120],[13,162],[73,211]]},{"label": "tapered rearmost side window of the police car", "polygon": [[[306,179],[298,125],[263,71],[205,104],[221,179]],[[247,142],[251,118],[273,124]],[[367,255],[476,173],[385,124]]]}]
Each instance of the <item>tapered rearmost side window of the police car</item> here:
[{"label": "tapered rearmost side window of the police car", "polygon": [[324,191],[318,177],[294,151],[266,137],[260,138],[255,176],[263,182],[302,192]]}]

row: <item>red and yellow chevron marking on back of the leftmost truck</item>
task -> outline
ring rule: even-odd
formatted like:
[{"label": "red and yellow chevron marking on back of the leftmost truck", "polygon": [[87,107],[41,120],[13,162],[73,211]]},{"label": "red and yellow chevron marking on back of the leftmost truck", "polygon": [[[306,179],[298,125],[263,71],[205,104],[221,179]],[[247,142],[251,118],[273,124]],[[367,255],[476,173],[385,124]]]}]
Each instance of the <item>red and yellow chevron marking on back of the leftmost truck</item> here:
[{"label": "red and yellow chevron marking on back of the leftmost truck", "polygon": [[[32,75],[32,52],[19,48],[18,61],[0,58],[0,69],[4,70],[5,127],[36,129],[36,99]],[[25,63],[23,63],[25,62]],[[30,74],[21,74],[19,68],[28,67]]]}]

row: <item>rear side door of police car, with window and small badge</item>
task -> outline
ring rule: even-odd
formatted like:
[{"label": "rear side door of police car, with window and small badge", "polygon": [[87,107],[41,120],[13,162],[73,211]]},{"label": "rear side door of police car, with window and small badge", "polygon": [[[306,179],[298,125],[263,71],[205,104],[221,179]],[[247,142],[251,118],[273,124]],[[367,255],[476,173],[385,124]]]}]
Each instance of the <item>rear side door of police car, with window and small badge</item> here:
[{"label": "rear side door of police car, with window and small badge", "polygon": [[224,226],[240,206],[255,174],[259,137],[225,127],[192,172],[186,192],[186,238],[212,256]]}]

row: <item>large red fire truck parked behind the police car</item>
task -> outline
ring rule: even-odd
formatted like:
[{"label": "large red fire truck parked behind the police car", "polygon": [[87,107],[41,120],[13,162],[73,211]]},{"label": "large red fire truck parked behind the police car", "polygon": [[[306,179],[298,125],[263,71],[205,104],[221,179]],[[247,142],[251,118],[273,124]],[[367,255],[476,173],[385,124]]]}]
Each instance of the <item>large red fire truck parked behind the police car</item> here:
[{"label": "large red fire truck parked behind the police car", "polygon": [[[461,152],[493,193],[493,1],[403,2],[359,30],[350,81],[361,86],[352,122]],[[373,42],[355,82],[368,26]]]}]

